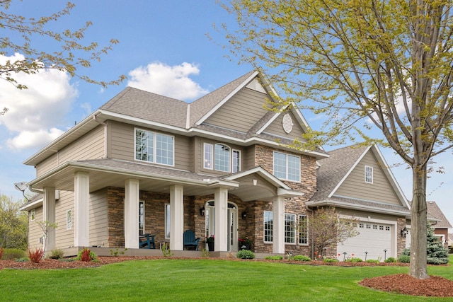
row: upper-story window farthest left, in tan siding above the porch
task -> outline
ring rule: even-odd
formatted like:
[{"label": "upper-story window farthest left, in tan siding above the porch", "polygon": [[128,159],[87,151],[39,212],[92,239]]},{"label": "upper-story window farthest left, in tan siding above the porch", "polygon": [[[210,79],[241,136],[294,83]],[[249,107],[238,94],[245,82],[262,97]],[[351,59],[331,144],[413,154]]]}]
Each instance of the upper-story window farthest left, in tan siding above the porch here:
[{"label": "upper-story window farthest left, in tan siding above the porch", "polygon": [[171,135],[135,129],[135,159],[173,165],[173,141]]}]

